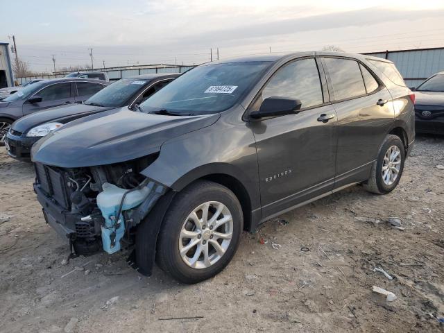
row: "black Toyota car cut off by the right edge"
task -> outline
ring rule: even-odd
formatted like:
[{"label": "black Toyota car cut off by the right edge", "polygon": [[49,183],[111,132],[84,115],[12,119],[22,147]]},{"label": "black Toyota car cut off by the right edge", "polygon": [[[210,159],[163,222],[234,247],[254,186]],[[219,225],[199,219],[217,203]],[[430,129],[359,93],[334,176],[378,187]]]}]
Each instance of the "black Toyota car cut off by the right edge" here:
[{"label": "black Toyota car cut off by the right edge", "polygon": [[414,90],[416,132],[444,134],[444,71],[427,78]]}]

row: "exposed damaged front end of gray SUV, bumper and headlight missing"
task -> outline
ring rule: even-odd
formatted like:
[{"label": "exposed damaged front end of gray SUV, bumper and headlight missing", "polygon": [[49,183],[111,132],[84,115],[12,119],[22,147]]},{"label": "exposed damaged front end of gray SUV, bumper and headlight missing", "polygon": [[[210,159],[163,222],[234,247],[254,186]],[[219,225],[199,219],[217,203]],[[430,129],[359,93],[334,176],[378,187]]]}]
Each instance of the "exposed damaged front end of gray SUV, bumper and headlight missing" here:
[{"label": "exposed damaged front end of gray SUV, bumper and headlight missing", "polygon": [[46,223],[67,237],[71,252],[116,253],[135,244],[137,225],[167,187],[140,171],[157,154],[99,167],[59,168],[35,163],[34,190]]}]

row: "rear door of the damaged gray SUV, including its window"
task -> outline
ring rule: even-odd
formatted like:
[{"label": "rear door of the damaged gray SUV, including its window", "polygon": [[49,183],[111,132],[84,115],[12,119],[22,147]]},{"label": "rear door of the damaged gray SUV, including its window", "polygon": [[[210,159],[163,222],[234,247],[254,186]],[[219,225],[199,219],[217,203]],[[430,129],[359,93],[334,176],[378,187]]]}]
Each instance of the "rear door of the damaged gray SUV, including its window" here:
[{"label": "rear door of the damaged gray SUV, including its window", "polygon": [[346,58],[323,58],[323,64],[338,116],[334,188],[339,189],[368,179],[394,111],[388,89],[364,64]]}]

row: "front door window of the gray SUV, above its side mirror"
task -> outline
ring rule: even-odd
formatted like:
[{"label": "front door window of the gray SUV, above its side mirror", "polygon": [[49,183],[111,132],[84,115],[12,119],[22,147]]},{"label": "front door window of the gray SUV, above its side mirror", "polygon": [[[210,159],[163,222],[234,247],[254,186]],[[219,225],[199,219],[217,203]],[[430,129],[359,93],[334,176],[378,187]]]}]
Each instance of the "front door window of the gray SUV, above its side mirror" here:
[{"label": "front door window of the gray SUV, above its side mirror", "polygon": [[323,103],[321,80],[314,59],[296,60],[284,65],[273,74],[255,101],[252,111],[257,111],[268,97],[299,99],[301,108]]}]

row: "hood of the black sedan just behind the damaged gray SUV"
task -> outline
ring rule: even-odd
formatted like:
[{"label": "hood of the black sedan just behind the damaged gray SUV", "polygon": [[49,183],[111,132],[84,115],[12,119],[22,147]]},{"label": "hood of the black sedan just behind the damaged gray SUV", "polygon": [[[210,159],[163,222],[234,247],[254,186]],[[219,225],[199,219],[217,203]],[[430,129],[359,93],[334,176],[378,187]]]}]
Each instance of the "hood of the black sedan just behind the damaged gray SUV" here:
[{"label": "hood of the black sedan just behind the damaged gray SUV", "polygon": [[51,108],[44,111],[28,114],[27,116],[15,121],[15,123],[12,124],[12,129],[17,130],[18,132],[25,133],[28,130],[31,130],[31,128],[42,123],[49,123],[53,121],[67,123],[68,121],[71,121],[78,117],[84,117],[95,112],[101,112],[110,109],[111,108],[78,103],[58,106],[57,108]]}]

